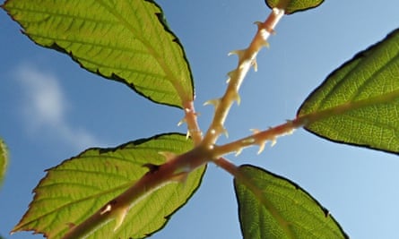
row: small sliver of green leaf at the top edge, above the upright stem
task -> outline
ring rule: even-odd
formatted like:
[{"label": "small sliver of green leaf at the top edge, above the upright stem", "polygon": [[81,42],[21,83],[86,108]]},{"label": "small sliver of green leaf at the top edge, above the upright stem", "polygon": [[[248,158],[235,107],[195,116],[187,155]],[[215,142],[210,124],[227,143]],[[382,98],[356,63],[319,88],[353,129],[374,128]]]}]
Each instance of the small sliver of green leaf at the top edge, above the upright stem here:
[{"label": "small sliver of green leaf at the top edge, above the upright stem", "polygon": [[324,0],[265,0],[270,7],[284,9],[286,14],[305,11],[323,4]]}]

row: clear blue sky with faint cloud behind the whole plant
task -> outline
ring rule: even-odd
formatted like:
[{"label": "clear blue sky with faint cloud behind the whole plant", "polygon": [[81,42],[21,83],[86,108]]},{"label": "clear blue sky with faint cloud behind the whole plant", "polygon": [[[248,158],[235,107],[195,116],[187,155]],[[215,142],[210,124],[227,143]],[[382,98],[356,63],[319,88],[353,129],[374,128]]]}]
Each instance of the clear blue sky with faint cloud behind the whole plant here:
[{"label": "clear blue sky with faint cloud behind the whole plant", "polygon": [[[3,2],[3,1],[2,1]],[[264,1],[159,1],[169,25],[186,48],[195,77],[195,107],[205,131],[213,108],[203,107],[225,90],[226,73],[237,64],[234,49],[247,47],[254,21],[270,12]],[[381,2],[382,3],[382,2]],[[360,50],[399,26],[399,3],[371,0],[325,1],[286,16],[258,56],[258,72],[247,75],[241,105],[226,122],[230,138],[292,119],[325,76]],[[31,191],[56,166],[83,149],[111,147],[178,127],[182,112],[153,104],[123,84],[82,70],[68,56],[38,47],[0,12],[0,136],[11,162],[0,189],[0,234],[8,232],[32,199]],[[160,120],[161,119],[161,120]],[[351,238],[397,238],[399,158],[392,154],[325,141],[303,130],[280,138],[257,156],[239,157],[283,175],[329,209]],[[152,238],[240,238],[237,203],[229,174],[209,166],[202,187]]]}]

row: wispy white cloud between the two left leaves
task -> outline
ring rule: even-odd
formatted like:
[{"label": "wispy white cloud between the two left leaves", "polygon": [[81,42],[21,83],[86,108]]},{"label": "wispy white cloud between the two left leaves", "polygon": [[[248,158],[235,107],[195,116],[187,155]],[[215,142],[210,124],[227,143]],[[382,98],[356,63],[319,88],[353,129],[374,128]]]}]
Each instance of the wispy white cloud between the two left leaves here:
[{"label": "wispy white cloud between the two left leaves", "polygon": [[22,86],[22,110],[30,132],[51,132],[53,137],[74,149],[103,145],[90,132],[67,122],[66,114],[71,106],[54,74],[27,64],[22,64],[15,72]]}]

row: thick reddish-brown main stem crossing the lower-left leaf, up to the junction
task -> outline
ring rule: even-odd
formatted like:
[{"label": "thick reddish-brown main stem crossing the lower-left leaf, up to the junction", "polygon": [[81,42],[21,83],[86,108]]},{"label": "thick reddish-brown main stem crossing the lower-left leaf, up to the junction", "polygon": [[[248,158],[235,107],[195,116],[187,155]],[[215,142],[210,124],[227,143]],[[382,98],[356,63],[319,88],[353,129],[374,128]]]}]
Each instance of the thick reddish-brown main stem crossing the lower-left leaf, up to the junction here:
[{"label": "thick reddish-brown main stem crossing the lower-left leaf, up to the junction", "polygon": [[149,166],[150,171],[134,182],[125,192],[108,201],[81,224],[71,226],[63,239],[84,238],[111,220],[116,220],[114,230],[123,223],[128,210],[147,195],[166,184],[185,182],[187,175],[208,162],[209,150],[195,147],[161,166]]}]

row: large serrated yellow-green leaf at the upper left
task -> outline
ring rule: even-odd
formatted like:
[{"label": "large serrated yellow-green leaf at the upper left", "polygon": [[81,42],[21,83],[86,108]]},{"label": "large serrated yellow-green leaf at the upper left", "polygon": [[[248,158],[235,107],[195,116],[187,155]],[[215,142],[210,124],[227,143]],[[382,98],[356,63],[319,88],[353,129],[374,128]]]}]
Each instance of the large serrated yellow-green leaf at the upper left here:
[{"label": "large serrated yellow-green leaf at the upper left", "polygon": [[151,0],[8,0],[3,7],[34,42],[91,73],[160,104],[182,107],[194,98],[183,47]]}]

